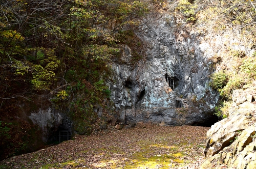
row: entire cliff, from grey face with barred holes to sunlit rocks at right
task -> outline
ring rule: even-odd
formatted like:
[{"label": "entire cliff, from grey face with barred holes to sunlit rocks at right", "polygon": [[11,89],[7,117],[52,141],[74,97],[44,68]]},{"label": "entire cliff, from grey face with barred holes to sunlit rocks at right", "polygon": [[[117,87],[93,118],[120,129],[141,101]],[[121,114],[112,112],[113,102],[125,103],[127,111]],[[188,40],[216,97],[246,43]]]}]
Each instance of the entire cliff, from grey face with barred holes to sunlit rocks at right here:
[{"label": "entire cliff, from grey face with barred holes to sunlit rocks at right", "polygon": [[[167,11],[143,26],[139,35],[146,49],[143,60],[129,64],[132,52],[123,46],[122,62],[113,64],[116,83],[110,89],[119,118],[159,125],[204,123],[221,99],[209,87],[210,76],[224,72],[223,84],[216,89],[222,100],[232,103],[224,119],[207,132],[201,168],[255,168],[253,36],[248,30],[234,29],[216,14],[209,16],[210,10],[199,13],[196,24]],[[172,80],[175,85],[169,92]]]}]

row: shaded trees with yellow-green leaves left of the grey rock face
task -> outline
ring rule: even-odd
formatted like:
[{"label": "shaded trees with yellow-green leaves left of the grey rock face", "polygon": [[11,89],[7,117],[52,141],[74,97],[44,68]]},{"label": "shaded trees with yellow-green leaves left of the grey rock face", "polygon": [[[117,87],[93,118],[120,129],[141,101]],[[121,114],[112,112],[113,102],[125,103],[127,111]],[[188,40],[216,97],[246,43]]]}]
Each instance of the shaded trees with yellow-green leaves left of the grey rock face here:
[{"label": "shaded trees with yellow-green leaves left of the grey rock face", "polygon": [[35,139],[33,123],[15,120],[22,108],[51,105],[77,119],[78,132],[91,126],[94,105],[109,103],[119,45],[136,38],[147,12],[141,1],[1,1],[0,149],[14,155]]}]

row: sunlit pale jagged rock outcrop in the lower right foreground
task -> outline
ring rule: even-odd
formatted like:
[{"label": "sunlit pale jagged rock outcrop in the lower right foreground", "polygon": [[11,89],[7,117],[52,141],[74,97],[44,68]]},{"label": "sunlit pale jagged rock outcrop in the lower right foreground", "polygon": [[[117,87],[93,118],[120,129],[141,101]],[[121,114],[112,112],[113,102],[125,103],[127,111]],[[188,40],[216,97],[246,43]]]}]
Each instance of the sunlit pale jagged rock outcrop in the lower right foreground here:
[{"label": "sunlit pale jagged rock outcrop in the lower right foreground", "polygon": [[[207,132],[206,160],[201,168],[255,168],[256,104],[254,86],[233,91],[229,116]],[[244,99],[244,98],[248,98]],[[252,102],[253,101],[253,102]]]}]

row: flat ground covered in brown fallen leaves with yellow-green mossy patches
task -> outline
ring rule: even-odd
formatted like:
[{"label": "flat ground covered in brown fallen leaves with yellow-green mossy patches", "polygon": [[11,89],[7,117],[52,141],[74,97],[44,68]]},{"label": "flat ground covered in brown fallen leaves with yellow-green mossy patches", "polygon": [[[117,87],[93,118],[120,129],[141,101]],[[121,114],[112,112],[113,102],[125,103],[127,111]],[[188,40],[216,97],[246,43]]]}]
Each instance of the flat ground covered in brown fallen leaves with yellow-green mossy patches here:
[{"label": "flat ground covered in brown fallen leaves with yellow-green mossy patches", "polygon": [[76,136],[0,168],[199,168],[209,127],[138,125]]}]

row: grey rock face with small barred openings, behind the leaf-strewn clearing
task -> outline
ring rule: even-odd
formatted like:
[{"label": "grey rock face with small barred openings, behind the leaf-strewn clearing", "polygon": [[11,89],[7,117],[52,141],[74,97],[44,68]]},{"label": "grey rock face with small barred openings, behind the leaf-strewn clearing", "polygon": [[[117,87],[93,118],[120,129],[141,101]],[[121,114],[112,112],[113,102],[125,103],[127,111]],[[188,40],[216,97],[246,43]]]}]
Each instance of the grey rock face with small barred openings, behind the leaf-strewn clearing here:
[{"label": "grey rock face with small barred openings, behind the leaf-strewn clearing", "polygon": [[109,84],[119,119],[200,125],[212,118],[218,94],[207,85],[211,55],[198,34],[177,30],[175,22],[163,15],[143,27],[146,57],[134,65],[131,49],[122,46],[121,62],[112,65],[115,83]]}]

